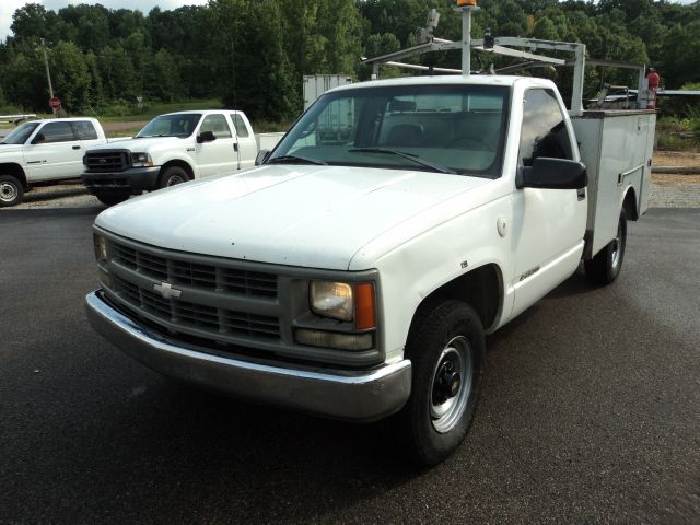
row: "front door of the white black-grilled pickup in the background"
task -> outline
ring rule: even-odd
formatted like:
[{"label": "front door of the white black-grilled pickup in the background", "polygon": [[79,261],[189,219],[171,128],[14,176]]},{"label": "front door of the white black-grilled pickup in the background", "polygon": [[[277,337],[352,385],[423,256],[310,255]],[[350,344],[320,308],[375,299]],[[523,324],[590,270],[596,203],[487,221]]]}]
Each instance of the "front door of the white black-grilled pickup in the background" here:
[{"label": "front door of the white black-grilled pickup in the background", "polygon": [[[208,140],[213,137],[214,140]],[[197,162],[202,177],[233,172],[238,152],[231,126],[222,113],[207,115],[197,132]]]}]

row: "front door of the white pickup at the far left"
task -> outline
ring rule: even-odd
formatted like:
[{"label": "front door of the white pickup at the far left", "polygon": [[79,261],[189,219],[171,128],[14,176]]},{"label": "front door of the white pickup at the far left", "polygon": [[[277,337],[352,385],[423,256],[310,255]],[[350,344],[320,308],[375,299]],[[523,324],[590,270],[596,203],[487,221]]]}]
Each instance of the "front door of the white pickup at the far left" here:
[{"label": "front door of the white pickup at the far left", "polygon": [[27,182],[80,177],[83,149],[70,121],[42,126],[23,148]]}]

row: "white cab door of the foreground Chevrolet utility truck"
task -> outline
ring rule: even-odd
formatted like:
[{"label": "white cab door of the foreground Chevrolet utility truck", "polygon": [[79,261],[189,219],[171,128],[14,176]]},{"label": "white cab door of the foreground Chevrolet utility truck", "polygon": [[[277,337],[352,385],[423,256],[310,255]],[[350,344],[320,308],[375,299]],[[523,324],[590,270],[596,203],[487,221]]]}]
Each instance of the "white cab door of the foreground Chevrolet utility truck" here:
[{"label": "white cab door of the foreground Chevrolet utility truck", "polygon": [[[525,91],[518,171],[537,158],[578,161],[573,128],[552,90]],[[516,177],[517,183],[517,177]],[[522,186],[516,184],[516,186]],[[586,190],[518,187],[513,194],[513,315],[571,276],[583,253]]]}]

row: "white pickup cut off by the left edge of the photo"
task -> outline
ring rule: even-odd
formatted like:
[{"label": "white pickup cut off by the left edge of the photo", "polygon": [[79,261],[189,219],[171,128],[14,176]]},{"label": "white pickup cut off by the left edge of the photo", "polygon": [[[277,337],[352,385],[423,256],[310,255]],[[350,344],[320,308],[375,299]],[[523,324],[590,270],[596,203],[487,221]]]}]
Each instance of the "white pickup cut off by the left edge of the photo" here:
[{"label": "white pickup cut off by the left edge of the photo", "polygon": [[106,143],[94,118],[21,124],[0,139],[0,207],[16,206],[34,186],[79,178],[86,148]]}]

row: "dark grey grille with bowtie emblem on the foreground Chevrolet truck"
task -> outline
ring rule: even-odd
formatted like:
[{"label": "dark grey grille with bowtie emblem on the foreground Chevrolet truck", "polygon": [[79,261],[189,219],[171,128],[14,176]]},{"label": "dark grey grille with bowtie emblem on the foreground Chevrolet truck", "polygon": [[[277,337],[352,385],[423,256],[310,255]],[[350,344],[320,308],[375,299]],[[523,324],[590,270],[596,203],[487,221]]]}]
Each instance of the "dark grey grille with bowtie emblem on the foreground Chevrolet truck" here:
[{"label": "dark grey grille with bowtie emblem on the foreground Chevrolet truck", "polygon": [[131,243],[110,242],[109,254],[114,296],[168,332],[223,345],[279,341],[276,275]]}]

